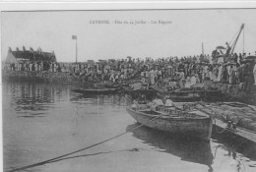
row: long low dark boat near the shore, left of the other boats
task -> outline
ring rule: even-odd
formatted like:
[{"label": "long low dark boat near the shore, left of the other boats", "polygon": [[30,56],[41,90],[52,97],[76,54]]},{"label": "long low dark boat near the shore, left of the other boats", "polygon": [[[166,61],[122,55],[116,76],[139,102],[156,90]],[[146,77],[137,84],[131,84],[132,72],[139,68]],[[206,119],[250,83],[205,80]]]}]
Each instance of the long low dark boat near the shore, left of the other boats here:
[{"label": "long low dark boat near the shore, left of the other boats", "polygon": [[122,87],[99,87],[99,88],[87,88],[87,89],[72,89],[72,91],[77,93],[96,93],[96,94],[105,94],[105,93],[116,93],[121,90]]}]

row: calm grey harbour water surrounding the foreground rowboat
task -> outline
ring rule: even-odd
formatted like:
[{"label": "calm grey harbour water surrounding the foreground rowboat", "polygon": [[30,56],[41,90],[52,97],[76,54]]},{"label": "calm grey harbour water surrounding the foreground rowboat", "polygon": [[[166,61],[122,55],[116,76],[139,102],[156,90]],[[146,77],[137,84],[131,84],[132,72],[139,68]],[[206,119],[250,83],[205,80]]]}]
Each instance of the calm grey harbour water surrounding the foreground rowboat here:
[{"label": "calm grey harbour water surrounding the foreground rowboat", "polygon": [[[2,87],[4,170],[69,153],[138,126],[126,112],[121,94],[82,96],[72,92],[74,86],[34,83]],[[236,144],[219,139],[202,143],[142,127],[28,170],[256,171],[256,158],[232,148]]]}]

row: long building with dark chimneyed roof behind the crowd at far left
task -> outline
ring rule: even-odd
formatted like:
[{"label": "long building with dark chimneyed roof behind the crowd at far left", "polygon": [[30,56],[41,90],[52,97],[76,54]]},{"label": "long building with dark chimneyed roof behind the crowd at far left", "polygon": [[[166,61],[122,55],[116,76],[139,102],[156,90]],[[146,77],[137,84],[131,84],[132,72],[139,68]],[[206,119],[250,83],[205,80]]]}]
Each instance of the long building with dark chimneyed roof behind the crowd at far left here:
[{"label": "long building with dark chimneyed roof behind the crowd at far left", "polygon": [[16,51],[13,51],[10,47],[6,57],[6,63],[20,63],[20,62],[56,62],[56,57],[53,52],[43,52],[41,48],[38,48],[37,51],[26,50],[23,47],[23,50],[16,48]]}]

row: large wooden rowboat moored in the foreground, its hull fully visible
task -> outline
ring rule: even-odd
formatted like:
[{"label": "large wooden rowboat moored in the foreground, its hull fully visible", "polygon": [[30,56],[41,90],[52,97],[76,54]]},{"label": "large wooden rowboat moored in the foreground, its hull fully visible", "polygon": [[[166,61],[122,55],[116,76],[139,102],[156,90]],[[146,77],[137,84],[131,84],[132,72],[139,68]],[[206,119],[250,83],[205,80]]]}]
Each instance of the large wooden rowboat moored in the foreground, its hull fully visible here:
[{"label": "large wooden rowboat moored in the foreground, its hull fully visible", "polygon": [[[201,111],[172,110],[166,113],[150,109],[137,110],[131,107],[127,107],[126,110],[138,123],[163,132],[181,134],[203,141],[209,141],[212,135],[213,119]],[[149,122],[150,120],[153,121]]]}]

